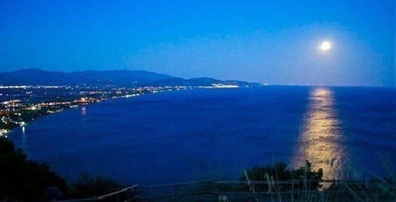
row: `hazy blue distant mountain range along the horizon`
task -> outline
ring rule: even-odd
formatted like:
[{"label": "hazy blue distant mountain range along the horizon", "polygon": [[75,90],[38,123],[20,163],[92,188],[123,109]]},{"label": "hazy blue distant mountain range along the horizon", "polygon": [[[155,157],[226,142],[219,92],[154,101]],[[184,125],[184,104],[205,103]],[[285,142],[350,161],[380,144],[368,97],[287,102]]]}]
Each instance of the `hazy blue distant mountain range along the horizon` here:
[{"label": "hazy blue distant mountain range along the horizon", "polygon": [[0,73],[1,85],[88,85],[88,86],[210,86],[234,84],[255,86],[246,81],[221,81],[212,78],[182,79],[139,70],[77,71],[71,73],[25,69]]}]

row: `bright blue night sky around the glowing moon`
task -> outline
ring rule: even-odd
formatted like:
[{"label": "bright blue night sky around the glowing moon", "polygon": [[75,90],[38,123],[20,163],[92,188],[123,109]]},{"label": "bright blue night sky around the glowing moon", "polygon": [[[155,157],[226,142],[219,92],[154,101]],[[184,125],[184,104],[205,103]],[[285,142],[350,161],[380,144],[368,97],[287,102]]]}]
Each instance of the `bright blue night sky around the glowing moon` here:
[{"label": "bright blue night sky around the glowing moon", "polygon": [[0,71],[395,86],[395,22],[395,0],[1,0]]}]

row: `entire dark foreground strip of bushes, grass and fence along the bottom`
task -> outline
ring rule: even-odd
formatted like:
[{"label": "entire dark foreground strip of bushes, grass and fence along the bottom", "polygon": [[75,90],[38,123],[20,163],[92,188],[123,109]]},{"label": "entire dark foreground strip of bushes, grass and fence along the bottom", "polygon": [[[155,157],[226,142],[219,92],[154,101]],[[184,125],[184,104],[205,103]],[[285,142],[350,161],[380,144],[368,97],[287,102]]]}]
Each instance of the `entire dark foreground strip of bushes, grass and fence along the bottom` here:
[{"label": "entire dark foreground strip of bushes, grass and fence along the bottom", "polygon": [[[66,182],[48,164],[27,159],[12,142],[0,137],[0,201],[53,201],[88,199],[116,192],[127,185],[87,173]],[[392,175],[391,175],[392,176]],[[197,183],[142,187],[136,200],[149,202],[339,202],[396,201],[396,177],[367,181],[323,180],[322,169],[310,162],[288,169],[284,162],[244,170],[239,181],[206,180]],[[163,192],[171,190],[170,192]],[[151,195],[150,195],[151,193]],[[162,197],[153,197],[158,194]],[[116,196],[120,198],[119,196]],[[129,196],[130,197],[130,196]],[[123,199],[129,199],[123,193]],[[108,199],[111,201],[111,199]],[[107,200],[107,201],[108,201]]]}]

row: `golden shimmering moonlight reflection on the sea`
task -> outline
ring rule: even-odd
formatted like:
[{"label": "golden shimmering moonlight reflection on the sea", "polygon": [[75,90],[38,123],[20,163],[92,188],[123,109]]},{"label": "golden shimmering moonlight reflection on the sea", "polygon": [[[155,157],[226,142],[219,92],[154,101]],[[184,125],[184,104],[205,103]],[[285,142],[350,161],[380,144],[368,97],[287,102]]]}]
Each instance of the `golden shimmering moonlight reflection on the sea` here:
[{"label": "golden shimmering moonlight reflection on the sea", "polygon": [[323,169],[324,179],[342,179],[347,165],[346,147],[343,145],[342,124],[335,110],[333,92],[324,87],[312,89],[309,109],[303,118],[298,137],[297,152],[293,157],[295,168],[305,160],[312,168]]}]

